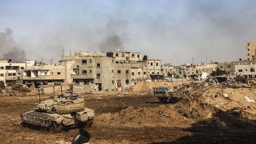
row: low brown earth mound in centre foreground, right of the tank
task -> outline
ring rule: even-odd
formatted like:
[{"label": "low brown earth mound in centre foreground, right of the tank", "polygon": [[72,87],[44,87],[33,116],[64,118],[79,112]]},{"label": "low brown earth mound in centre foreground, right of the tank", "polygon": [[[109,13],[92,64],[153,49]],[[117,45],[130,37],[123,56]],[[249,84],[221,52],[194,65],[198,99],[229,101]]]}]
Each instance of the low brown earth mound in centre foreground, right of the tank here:
[{"label": "low brown earth mound in centre foreground, right of the tank", "polygon": [[180,123],[193,123],[187,117],[174,110],[173,105],[159,105],[159,107],[129,106],[119,113],[101,114],[95,119],[97,125],[111,124],[113,126],[178,126]]}]

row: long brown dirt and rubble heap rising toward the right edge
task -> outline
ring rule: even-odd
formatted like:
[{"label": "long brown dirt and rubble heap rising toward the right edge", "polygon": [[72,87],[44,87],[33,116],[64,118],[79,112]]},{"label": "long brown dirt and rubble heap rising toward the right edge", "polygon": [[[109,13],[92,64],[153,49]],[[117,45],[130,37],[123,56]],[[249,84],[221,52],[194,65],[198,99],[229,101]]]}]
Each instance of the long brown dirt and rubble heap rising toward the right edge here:
[{"label": "long brown dirt and rubble heap rising toward the right edge", "polygon": [[129,106],[119,113],[102,114],[95,122],[128,127],[182,127],[202,123],[220,129],[251,129],[251,126],[256,126],[254,82],[231,76],[207,76],[201,82],[173,85],[174,89],[189,91],[187,97],[178,103],[142,108]]}]

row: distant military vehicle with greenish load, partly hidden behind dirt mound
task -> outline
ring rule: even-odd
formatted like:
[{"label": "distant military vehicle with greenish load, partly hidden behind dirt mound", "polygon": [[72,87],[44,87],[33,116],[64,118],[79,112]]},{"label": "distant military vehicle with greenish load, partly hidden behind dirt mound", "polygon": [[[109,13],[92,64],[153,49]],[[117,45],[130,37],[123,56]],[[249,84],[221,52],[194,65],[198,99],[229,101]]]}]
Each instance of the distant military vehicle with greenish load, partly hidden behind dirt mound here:
[{"label": "distant military vehicle with greenish load, partly hidden behind dirt mound", "polygon": [[153,87],[155,97],[158,97],[160,103],[177,103],[187,97],[188,91],[183,89],[175,89],[169,91],[168,87]]}]

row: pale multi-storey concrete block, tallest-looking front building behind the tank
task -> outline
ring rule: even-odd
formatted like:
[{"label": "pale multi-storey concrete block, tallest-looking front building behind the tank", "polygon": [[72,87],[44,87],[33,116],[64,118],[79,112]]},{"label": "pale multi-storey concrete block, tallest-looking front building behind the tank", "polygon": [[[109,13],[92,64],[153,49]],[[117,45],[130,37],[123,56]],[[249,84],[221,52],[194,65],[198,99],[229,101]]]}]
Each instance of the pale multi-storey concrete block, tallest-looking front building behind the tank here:
[{"label": "pale multi-storey concrete block, tallest-looking front building behind the tank", "polygon": [[79,56],[75,57],[75,61],[71,74],[73,82],[87,85],[96,91],[131,86],[129,63],[116,63],[112,57],[107,56]]}]

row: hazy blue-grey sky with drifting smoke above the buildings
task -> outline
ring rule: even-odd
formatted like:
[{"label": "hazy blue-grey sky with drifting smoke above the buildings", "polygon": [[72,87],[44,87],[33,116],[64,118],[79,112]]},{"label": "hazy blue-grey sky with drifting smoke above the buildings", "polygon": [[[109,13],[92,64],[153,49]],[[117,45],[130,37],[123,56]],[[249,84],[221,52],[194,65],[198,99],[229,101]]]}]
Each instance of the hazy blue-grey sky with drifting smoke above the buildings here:
[{"label": "hazy blue-grey sky with drifting smoke above the buildings", "polygon": [[[11,30],[11,46],[25,50],[27,59],[48,62],[60,59],[63,48],[66,54],[120,48],[164,63],[172,59],[174,65],[192,57],[196,63],[206,57],[245,59],[247,42],[256,40],[255,5],[253,0],[0,0],[0,43],[1,34]],[[0,55],[9,45],[0,44]]]}]

